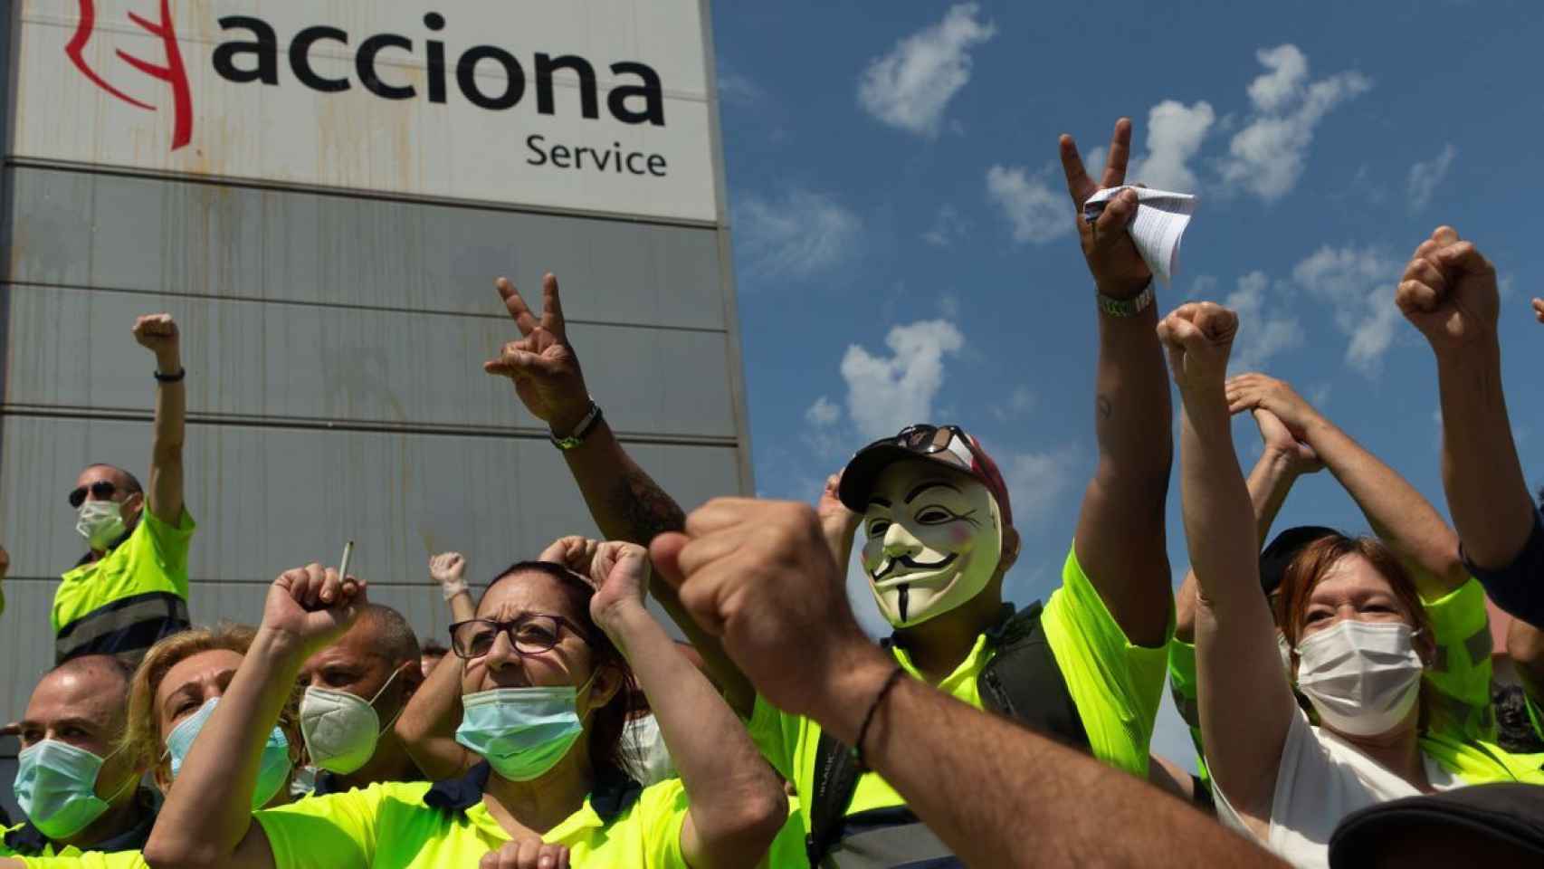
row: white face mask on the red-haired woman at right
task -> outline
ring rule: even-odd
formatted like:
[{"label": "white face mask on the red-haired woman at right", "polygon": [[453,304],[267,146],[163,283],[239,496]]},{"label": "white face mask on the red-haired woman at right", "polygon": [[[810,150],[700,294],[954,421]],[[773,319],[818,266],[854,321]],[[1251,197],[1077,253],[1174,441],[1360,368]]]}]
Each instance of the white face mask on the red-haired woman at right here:
[{"label": "white face mask on the red-haired woman at right", "polygon": [[1425,668],[1414,630],[1345,619],[1297,644],[1297,687],[1319,721],[1351,736],[1388,733],[1414,708]]}]

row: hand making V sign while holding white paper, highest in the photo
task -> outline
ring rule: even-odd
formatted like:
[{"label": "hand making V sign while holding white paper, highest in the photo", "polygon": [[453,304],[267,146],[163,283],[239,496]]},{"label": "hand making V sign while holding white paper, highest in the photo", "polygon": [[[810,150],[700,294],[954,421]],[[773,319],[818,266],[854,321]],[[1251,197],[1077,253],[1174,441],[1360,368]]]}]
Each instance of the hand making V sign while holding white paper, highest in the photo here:
[{"label": "hand making V sign while holding white paper, highest in the photo", "polygon": [[1096,191],[1126,184],[1126,162],[1132,154],[1132,120],[1122,117],[1115,122],[1115,134],[1110,137],[1110,156],[1104,164],[1104,173],[1095,182],[1082,167],[1078,156],[1078,144],[1072,136],[1061,137],[1062,171],[1067,173],[1067,193],[1072,196],[1075,221],[1078,221],[1078,238],[1082,242],[1082,256],[1089,261],[1089,272],[1099,292],[1112,298],[1133,298],[1143,292],[1152,279],[1152,270],[1143,255],[1136,252],[1136,242],[1126,227],[1136,216],[1136,193],[1126,190],[1112,199],[1104,213],[1090,224],[1082,218],[1082,205]]}]

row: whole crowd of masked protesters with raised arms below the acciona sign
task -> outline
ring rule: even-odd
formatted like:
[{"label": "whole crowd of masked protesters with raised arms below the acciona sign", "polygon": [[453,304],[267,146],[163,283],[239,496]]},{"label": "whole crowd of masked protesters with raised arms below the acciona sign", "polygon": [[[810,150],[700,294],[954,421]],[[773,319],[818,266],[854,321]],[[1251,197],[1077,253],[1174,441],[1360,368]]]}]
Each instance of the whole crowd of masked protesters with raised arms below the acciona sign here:
[{"label": "whole crowd of masked protesters with raised arms below the acciona sign", "polygon": [[[1235,312],[1161,313],[1135,193],[1081,216],[1126,185],[1130,137],[1122,119],[1098,179],[1061,139],[1095,282],[1098,465],[1061,585],[1025,607],[1004,600],[1008,488],[954,424],[857,449],[814,508],[686,512],[591,400],[548,275],[539,316],[497,282],[520,336],[485,370],[550,426],[602,540],[510,553],[480,596],[462,556],[431,559],[449,648],[343,565],[279,573],[256,627],[193,627],[179,332],[139,318],[148,486],[93,465],[69,491],[90,551],[12,725],[26,817],[0,869],[1544,864],[1544,514],[1507,418],[1495,267],[1441,227],[1387,299],[1436,357],[1450,526],[1291,384],[1229,377]],[[1315,472],[1373,536],[1272,536]],[[879,645],[846,599],[854,546],[894,627]],[[1515,617],[1510,695],[1487,597]],[[1150,753],[1166,679],[1200,775]]]}]

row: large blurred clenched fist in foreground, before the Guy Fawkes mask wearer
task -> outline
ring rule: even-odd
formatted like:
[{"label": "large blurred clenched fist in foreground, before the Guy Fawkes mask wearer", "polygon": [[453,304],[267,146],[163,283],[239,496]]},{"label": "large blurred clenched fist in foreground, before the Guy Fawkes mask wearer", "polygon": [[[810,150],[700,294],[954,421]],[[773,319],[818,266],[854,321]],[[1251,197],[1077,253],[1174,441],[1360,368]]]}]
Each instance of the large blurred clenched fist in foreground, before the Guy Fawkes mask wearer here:
[{"label": "large blurred clenched fist in foreground, before the Guy Fawkes mask wearer", "polygon": [[648,548],[681,604],[772,705],[820,719],[834,685],[874,648],[848,605],[815,511],[715,499]]}]

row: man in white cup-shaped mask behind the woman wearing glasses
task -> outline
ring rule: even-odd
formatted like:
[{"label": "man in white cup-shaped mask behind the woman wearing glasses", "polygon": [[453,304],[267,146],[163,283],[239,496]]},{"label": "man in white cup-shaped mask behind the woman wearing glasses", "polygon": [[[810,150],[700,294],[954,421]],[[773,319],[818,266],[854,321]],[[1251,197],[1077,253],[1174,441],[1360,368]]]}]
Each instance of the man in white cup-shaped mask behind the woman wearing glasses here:
[{"label": "man in white cup-shaped mask behind the woman wearing glasses", "polygon": [[371,604],[349,633],[306,662],[300,721],[317,796],[423,778],[394,729],[423,684],[418,658],[401,613]]}]

